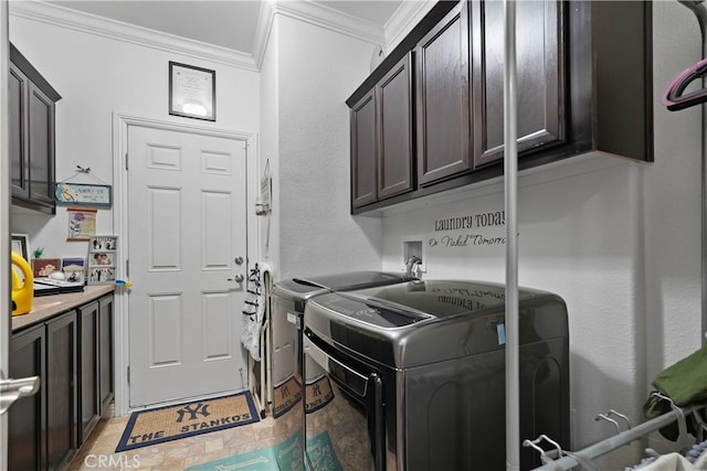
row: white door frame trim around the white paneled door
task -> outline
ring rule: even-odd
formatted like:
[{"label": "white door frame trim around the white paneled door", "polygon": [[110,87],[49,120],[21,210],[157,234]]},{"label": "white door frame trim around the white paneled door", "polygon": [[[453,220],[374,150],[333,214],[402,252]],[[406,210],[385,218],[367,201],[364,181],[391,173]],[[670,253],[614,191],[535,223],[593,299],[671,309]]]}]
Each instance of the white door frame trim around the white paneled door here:
[{"label": "white door frame trim around the white paneled door", "polygon": [[[232,131],[226,129],[197,126],[182,121],[168,121],[159,118],[146,118],[128,114],[113,114],[113,227],[118,242],[117,279],[124,279],[126,254],[128,247],[128,171],[126,169],[125,156],[128,149],[128,128],[130,126],[162,129],[177,132],[189,132],[202,136],[212,136],[223,139],[245,140],[246,152],[246,244],[249,266],[257,261],[257,227],[255,216],[255,191],[257,188],[257,135],[255,132]],[[128,162],[129,165],[129,162]],[[126,288],[116,288],[115,292],[115,415],[123,416],[130,411],[130,392],[128,387],[128,362],[129,362],[129,339],[128,339],[128,302],[123,293]],[[249,384],[250,387],[250,384]]]}]

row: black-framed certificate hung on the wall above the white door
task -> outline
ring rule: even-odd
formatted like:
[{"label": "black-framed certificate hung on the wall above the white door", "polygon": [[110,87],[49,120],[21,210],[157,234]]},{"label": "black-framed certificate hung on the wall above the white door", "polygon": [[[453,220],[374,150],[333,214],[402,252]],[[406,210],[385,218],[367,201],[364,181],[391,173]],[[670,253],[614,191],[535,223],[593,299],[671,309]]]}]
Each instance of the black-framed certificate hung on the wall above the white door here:
[{"label": "black-framed certificate hung on the wall above the white door", "polygon": [[169,61],[169,114],[215,121],[215,71]]}]

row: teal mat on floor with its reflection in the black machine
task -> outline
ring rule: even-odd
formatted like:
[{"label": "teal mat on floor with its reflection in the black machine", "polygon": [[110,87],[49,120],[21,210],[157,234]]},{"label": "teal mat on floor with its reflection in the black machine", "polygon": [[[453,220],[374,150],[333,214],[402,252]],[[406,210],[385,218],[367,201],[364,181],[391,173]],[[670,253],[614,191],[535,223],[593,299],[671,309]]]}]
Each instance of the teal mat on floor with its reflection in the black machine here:
[{"label": "teal mat on floor with its reflection in the black machine", "polygon": [[[274,447],[250,451],[234,457],[222,458],[187,468],[186,471],[303,471],[302,430]],[[336,458],[329,433],[321,432],[307,440],[309,464],[314,471],[342,471]]]}]

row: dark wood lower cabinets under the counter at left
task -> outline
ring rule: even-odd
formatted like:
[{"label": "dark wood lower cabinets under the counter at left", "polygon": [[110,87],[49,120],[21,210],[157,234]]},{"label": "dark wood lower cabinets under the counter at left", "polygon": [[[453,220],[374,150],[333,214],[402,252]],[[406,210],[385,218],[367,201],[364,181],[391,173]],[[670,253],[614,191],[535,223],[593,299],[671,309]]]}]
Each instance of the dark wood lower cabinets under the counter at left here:
[{"label": "dark wood lower cabinets under the counter at left", "polygon": [[13,378],[40,390],[8,411],[9,470],[65,470],[114,397],[114,297],[12,334]]}]

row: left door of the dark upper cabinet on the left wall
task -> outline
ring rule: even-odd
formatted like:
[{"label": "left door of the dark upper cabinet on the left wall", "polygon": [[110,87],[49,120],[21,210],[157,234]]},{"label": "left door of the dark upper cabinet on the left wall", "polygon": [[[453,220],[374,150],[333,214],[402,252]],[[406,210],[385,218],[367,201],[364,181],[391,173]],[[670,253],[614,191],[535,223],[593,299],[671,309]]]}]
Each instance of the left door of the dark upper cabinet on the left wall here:
[{"label": "left door of the dark upper cabinet on the left wall", "polygon": [[10,141],[10,173],[12,179],[12,196],[30,196],[29,154],[27,151],[27,95],[29,81],[22,72],[10,64],[8,81],[9,94],[9,141]]}]

